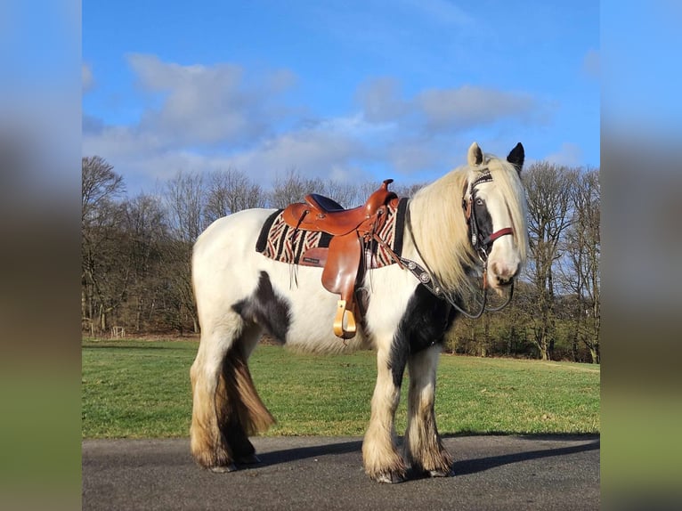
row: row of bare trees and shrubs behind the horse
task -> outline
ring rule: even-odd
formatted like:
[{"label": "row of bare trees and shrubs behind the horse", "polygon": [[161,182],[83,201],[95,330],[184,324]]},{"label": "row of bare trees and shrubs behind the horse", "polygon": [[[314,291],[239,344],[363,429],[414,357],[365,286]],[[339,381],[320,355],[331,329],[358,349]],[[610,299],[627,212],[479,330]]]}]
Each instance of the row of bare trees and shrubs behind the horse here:
[{"label": "row of bare trees and shrubs behind the horse", "polygon": [[[454,353],[599,361],[599,181],[597,169],[539,162],[524,169],[531,259],[502,312],[461,320]],[[265,188],[234,169],[179,172],[154,193],[126,194],[98,156],[82,160],[84,333],[93,337],[199,332],[191,247],[209,223],[250,207],[285,207],[318,192],[346,207],[378,183],[337,183],[288,171]],[[396,186],[401,196],[419,188]]]}]

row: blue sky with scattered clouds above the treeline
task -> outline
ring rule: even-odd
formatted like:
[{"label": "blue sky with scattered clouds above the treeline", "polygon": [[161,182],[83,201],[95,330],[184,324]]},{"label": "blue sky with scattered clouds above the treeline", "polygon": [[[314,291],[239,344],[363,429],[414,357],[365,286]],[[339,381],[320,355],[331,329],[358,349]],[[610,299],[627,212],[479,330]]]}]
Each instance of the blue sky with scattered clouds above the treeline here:
[{"label": "blue sky with scattered clouds above the treeline", "polygon": [[432,181],[467,148],[599,166],[599,3],[82,5],[83,156],[178,171]]}]

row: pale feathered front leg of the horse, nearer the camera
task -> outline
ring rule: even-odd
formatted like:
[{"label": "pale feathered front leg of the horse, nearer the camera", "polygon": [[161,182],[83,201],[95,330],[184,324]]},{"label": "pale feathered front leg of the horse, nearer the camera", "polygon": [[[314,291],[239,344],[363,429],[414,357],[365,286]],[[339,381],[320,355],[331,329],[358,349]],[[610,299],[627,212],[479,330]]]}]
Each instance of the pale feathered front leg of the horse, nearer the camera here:
[{"label": "pale feathered front leg of the horse, nearer the camera", "polygon": [[400,403],[405,357],[390,348],[378,349],[377,385],[374,388],[369,427],[362,442],[365,472],[379,483],[401,483],[407,467],[396,450],[395,410]]}]

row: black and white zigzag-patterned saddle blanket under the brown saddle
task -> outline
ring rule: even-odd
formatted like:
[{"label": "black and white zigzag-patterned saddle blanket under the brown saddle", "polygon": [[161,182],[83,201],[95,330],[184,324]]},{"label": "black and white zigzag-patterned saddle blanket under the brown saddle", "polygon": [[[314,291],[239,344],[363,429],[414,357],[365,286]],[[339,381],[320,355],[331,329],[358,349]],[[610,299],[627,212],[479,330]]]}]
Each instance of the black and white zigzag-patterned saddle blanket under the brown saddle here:
[{"label": "black and white zigzag-patterned saddle blanket under the brown saddle", "polygon": [[[386,245],[397,255],[402,254],[402,235],[405,227],[407,204],[408,199],[403,198],[396,207],[389,205],[386,222],[377,232],[378,237],[383,239]],[[313,249],[329,247],[329,242],[333,237],[327,232],[301,231],[290,227],[284,222],[282,211],[282,209],[278,209],[272,213],[263,224],[256,242],[256,252],[281,263],[323,266],[323,260],[321,261],[317,257],[320,250]],[[306,257],[306,252],[315,254],[315,256]],[[394,260],[386,248],[379,245],[375,239],[370,240],[365,246],[365,252],[367,266],[370,268],[394,264]]]}]

